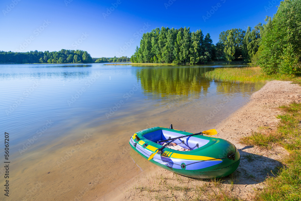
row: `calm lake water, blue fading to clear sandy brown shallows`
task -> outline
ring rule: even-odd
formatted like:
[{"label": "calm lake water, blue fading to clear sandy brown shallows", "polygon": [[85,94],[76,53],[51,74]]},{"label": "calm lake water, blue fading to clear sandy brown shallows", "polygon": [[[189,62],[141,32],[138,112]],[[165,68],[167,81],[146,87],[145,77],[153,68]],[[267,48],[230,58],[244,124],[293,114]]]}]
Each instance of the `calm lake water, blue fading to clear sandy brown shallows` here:
[{"label": "calm lake water, blue fading to clear sandy brown shallows", "polygon": [[216,67],[223,66],[0,65],[6,199],[101,197],[147,171],[150,163],[129,147],[133,133],[169,124],[192,133],[214,128],[263,86],[203,77]]}]

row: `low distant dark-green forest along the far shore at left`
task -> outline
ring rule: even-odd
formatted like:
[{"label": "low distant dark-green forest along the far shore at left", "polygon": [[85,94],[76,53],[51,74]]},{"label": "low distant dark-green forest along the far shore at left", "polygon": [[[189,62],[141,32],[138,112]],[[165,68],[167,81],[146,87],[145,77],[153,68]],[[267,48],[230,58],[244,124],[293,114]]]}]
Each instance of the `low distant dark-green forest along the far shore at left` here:
[{"label": "low distant dark-green forest along the far shore at left", "polygon": [[82,50],[65,50],[58,52],[4,52],[0,51],[0,63],[111,63],[111,62],[129,62],[128,57],[120,58],[92,58],[91,55]]}]

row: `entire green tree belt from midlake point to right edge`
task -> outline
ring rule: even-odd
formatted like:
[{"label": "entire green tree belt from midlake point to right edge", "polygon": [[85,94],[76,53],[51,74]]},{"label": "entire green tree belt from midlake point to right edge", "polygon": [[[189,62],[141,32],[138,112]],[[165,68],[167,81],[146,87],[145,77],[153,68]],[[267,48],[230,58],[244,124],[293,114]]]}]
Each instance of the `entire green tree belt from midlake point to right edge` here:
[{"label": "entire green tree belt from midlake point to right edge", "polygon": [[301,73],[301,1],[281,1],[274,17],[253,29],[231,29],[213,44],[209,33],[189,27],[156,28],[144,33],[131,57],[133,63],[201,64],[222,60],[259,65],[265,74]]}]

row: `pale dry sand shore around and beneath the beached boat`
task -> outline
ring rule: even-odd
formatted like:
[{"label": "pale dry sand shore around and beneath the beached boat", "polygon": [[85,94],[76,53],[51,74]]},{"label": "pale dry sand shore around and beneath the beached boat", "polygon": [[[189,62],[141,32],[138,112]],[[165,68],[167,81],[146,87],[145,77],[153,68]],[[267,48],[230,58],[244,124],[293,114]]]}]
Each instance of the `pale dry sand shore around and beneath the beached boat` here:
[{"label": "pale dry sand shore around and beneath the beached boat", "polygon": [[[152,171],[142,172],[98,200],[193,200],[197,196],[201,200],[210,200],[210,195],[216,193],[231,193],[251,200],[254,190],[264,187],[264,180],[271,175],[271,170],[281,167],[281,158],[287,155],[287,151],[277,146],[269,151],[244,146],[239,143],[239,138],[262,127],[275,129],[279,121],[276,116],[282,113],[278,107],[293,101],[301,102],[299,85],[271,81],[253,93],[250,102],[216,125],[219,133],[216,137],[236,145],[241,156],[237,171],[223,178],[222,182],[192,179],[153,165]],[[141,157],[140,160],[144,159]],[[145,164],[143,161],[138,164],[138,161],[138,166]]]}]

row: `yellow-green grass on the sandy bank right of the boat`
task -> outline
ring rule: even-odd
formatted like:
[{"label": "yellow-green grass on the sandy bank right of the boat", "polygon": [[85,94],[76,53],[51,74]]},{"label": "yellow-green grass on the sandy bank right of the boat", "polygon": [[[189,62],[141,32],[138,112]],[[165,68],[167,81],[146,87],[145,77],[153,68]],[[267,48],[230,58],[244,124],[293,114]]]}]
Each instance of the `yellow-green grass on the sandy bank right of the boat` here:
[{"label": "yellow-green grass on the sandy bank right of the boat", "polygon": [[301,104],[291,103],[279,107],[285,111],[278,115],[280,119],[276,130],[254,132],[241,138],[240,143],[272,149],[283,146],[290,155],[283,159],[285,167],[275,177],[269,177],[263,190],[257,190],[255,200],[300,200],[301,198]]}]

